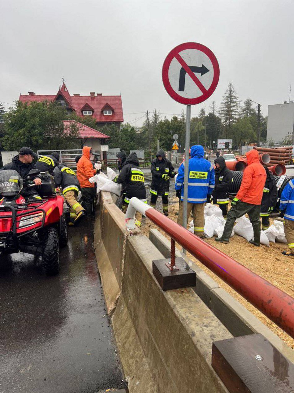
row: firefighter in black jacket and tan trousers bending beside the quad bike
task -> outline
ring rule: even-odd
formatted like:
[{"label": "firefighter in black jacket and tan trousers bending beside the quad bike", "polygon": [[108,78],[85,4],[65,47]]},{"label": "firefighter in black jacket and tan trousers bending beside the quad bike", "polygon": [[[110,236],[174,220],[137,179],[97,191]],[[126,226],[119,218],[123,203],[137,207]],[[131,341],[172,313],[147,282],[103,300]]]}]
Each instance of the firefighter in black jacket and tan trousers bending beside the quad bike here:
[{"label": "firefighter in black jacket and tan trousers bending beside the quad bike", "polygon": [[62,187],[64,199],[76,215],[75,219],[71,222],[75,225],[85,215],[85,209],[77,201],[78,192],[80,191],[78,178],[74,171],[64,164],[55,167],[53,176],[56,187]]}]

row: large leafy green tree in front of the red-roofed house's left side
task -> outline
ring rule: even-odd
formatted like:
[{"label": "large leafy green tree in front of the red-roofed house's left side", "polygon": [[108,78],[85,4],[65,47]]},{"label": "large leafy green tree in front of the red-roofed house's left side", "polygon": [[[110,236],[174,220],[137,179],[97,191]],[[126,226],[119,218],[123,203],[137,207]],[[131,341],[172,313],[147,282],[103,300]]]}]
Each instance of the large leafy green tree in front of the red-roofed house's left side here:
[{"label": "large leafy green tree in front of the red-roofed house's left side", "polygon": [[4,115],[3,147],[18,150],[29,146],[34,150],[71,149],[78,145],[76,124],[64,129],[66,110],[59,103],[16,101]]}]

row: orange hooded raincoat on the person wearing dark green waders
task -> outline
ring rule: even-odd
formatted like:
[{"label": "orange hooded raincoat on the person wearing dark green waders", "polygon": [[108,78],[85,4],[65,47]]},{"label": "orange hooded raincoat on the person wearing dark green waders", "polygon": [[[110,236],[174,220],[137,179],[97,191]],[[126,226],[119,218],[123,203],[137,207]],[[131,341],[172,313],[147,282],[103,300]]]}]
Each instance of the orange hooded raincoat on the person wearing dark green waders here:
[{"label": "orange hooded raincoat on the person wearing dark green waders", "polygon": [[248,166],[244,170],[241,187],[236,198],[252,205],[260,205],[267,174],[259,161],[257,150],[250,150],[245,155]]}]

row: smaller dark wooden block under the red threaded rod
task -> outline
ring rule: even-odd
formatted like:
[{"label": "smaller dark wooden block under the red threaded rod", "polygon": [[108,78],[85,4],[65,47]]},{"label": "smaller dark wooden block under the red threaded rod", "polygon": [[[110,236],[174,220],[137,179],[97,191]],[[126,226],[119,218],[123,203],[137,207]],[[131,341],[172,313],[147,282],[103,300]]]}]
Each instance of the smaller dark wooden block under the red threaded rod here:
[{"label": "smaller dark wooden block under the red threaded rod", "polygon": [[177,272],[171,272],[166,266],[170,259],[152,261],[152,273],[164,291],[196,285],[196,273],[191,270],[183,258],[176,258]]}]

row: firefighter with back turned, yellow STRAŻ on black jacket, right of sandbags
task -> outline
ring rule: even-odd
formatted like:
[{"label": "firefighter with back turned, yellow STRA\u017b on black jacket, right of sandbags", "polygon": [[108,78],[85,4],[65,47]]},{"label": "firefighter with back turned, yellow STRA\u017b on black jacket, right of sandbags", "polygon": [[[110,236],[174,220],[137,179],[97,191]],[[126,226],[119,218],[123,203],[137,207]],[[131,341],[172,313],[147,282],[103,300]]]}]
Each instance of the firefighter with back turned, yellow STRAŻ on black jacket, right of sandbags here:
[{"label": "firefighter with back turned, yellow STRA\u017b on black jacket, right of sandbags", "polygon": [[[139,168],[139,161],[135,152],[129,154],[120,174],[114,178],[114,182],[125,184],[124,203],[122,205],[123,213],[127,211],[128,204],[133,196],[147,203],[144,173]],[[135,219],[136,225],[141,226],[142,214],[137,211]]]}]

